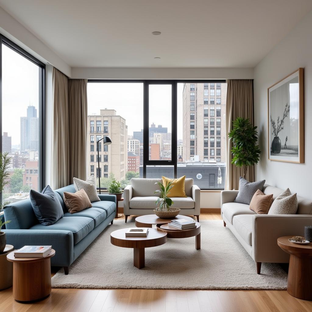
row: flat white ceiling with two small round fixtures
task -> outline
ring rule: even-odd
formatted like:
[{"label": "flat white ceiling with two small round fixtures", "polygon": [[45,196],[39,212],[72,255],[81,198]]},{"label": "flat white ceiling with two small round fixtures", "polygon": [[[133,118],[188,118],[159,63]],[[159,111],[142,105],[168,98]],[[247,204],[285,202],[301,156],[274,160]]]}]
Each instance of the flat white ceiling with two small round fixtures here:
[{"label": "flat white ceiling with two small round fixtures", "polygon": [[0,6],[72,67],[254,67],[312,1],[0,0]]}]

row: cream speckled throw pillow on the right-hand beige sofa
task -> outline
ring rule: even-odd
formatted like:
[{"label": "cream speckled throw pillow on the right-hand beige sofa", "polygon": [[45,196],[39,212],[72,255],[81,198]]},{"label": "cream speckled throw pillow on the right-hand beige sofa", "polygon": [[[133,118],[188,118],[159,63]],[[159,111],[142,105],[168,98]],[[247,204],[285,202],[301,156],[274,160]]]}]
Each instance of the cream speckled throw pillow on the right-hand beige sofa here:
[{"label": "cream speckled throw pillow on the right-hand beige sofa", "polygon": [[296,214],[297,209],[297,193],[291,195],[289,188],[287,188],[275,198],[268,214]]}]

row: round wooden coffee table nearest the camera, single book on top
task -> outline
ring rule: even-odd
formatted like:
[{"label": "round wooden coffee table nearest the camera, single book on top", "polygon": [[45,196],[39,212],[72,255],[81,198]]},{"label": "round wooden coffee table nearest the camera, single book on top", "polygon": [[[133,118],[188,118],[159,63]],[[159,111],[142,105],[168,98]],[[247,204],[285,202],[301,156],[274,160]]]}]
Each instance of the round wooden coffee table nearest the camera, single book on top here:
[{"label": "round wooden coffee table nearest the camera, single book on top", "polygon": [[145,248],[163,245],[167,241],[167,233],[149,229],[147,236],[126,236],[126,229],[110,233],[110,242],[119,247],[133,248],[133,265],[138,269],[145,266]]}]

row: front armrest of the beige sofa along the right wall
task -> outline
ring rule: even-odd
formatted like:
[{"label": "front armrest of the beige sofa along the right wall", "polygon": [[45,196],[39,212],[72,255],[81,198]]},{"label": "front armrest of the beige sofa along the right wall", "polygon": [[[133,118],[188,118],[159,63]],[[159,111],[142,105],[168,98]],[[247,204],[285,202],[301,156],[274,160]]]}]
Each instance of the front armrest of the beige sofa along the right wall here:
[{"label": "front armrest of the beige sofa along the right wall", "polygon": [[256,262],[288,262],[289,254],[277,245],[281,236],[304,236],[305,226],[312,225],[312,215],[253,215],[252,258]]}]

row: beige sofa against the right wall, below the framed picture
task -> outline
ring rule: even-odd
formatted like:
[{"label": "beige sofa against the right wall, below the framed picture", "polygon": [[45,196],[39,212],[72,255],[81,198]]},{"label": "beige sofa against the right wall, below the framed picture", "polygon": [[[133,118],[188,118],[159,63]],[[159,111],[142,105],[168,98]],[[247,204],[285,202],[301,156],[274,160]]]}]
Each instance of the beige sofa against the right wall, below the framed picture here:
[{"label": "beige sofa against the right wall, below the framed picture", "polygon": [[[262,192],[275,199],[284,190],[265,184]],[[238,191],[222,191],[221,215],[241,245],[256,261],[260,274],[262,262],[288,263],[289,254],[277,246],[277,238],[286,235],[304,236],[306,225],[312,225],[312,200],[298,196],[295,215],[256,214],[249,205],[236,203]]]}]

